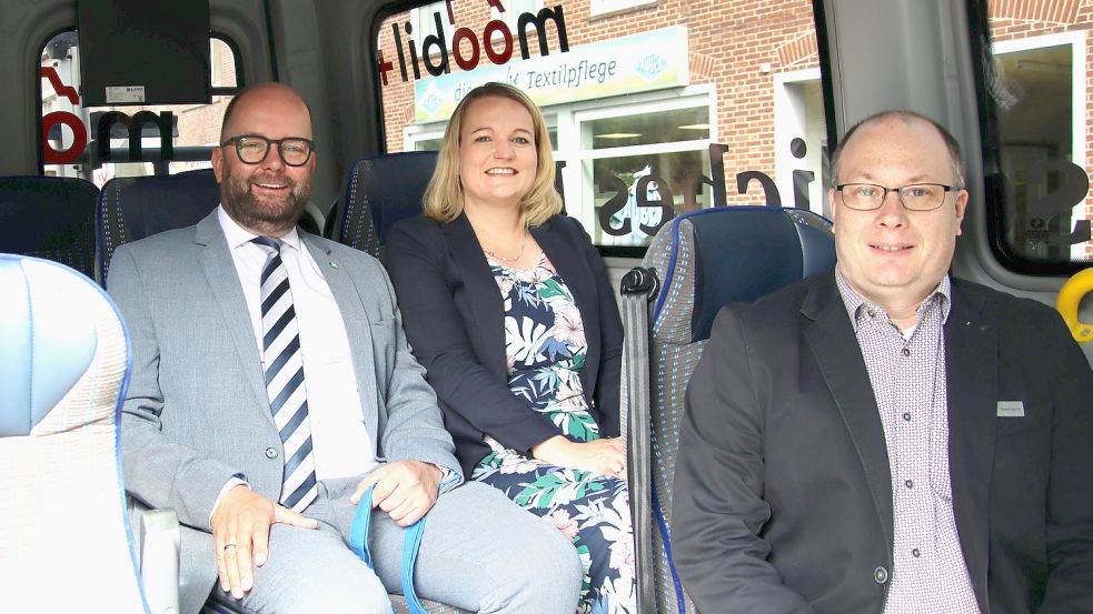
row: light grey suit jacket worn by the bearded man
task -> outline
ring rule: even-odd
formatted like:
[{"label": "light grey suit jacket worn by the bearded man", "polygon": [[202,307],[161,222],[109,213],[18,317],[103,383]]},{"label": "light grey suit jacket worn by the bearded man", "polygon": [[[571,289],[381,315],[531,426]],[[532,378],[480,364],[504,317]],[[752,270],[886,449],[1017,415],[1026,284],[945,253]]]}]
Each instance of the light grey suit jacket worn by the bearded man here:
[{"label": "light grey suit jacket worn by the bearded man", "polygon": [[[302,233],[345,319],[365,425],[381,461],[459,473],[436,395],[414,360],[387,274],[364,252]],[[337,268],[332,264],[337,263]],[[132,342],[122,409],[126,489],[178,512],[181,610],[216,580],[209,516],[232,476],[272,500],[284,450],[270,415],[254,329],[213,211],[197,225],[121,245],[109,292]]]}]

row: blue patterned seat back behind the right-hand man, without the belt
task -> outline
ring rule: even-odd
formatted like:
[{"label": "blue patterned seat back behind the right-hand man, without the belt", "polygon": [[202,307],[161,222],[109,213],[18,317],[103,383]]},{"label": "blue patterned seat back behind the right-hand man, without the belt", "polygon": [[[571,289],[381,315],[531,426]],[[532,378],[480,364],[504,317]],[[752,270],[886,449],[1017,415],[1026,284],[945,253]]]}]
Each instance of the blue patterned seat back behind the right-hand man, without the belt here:
[{"label": "blue patterned seat back behind the right-hand man, without the belt", "polygon": [[653,566],[660,614],[694,612],[670,564],[672,482],[687,383],[714,316],[727,303],[754,301],[834,264],[831,222],[796,209],[694,211],[660,229],[649,245],[643,265],[662,280],[649,318],[648,364]]}]

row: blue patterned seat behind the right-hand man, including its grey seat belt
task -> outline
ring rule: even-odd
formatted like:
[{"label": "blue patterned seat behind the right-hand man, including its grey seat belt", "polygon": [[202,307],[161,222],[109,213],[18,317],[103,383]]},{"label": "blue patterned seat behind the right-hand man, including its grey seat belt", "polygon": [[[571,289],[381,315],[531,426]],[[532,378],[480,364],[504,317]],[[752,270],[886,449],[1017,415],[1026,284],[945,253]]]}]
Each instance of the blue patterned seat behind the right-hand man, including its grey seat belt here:
[{"label": "blue patterned seat behind the right-hand man, including its grey seat belt", "polygon": [[[831,222],[815,213],[719,207],[675,218],[654,238],[643,268],[624,278],[623,407],[638,595],[655,600],[656,612],[694,612],[670,560],[672,481],[687,382],[714,316],[726,303],[754,301],[834,263]],[[642,290],[643,276],[659,276],[658,288]],[[647,352],[635,352],[646,342]]]}]

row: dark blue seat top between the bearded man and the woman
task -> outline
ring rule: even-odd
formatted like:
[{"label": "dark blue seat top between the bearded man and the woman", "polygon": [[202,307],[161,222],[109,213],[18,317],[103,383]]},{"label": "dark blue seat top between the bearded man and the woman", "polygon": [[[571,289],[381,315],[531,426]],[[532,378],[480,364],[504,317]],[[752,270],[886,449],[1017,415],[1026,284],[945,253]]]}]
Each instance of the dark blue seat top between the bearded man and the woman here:
[{"label": "dark blue seat top between the bearded man and the woman", "polygon": [[379,258],[391,225],[421,213],[421,197],[436,162],[435,151],[388,153],[354,162],[331,239]]}]

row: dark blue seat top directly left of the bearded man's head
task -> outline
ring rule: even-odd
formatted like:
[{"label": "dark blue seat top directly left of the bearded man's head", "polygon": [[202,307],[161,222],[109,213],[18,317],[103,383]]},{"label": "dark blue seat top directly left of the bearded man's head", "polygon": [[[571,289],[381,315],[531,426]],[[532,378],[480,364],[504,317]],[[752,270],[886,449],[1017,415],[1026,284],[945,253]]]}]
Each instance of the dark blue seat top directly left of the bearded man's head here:
[{"label": "dark blue seat top directly left of the bearded man's head", "polygon": [[220,185],[212,169],[107,181],[96,212],[99,279],[106,285],[118,245],[196,224],[218,204]]}]

